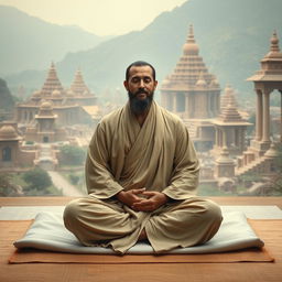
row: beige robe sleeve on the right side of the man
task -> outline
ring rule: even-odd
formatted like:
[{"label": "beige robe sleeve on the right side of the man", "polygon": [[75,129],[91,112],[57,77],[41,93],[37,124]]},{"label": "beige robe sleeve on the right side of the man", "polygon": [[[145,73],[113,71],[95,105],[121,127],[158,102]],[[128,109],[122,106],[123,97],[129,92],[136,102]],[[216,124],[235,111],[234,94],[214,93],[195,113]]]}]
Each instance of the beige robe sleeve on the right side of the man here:
[{"label": "beige robe sleeve on the right side of the man", "polygon": [[173,172],[163,193],[173,199],[186,199],[196,194],[199,162],[188,130],[181,121],[176,123],[175,137]]}]

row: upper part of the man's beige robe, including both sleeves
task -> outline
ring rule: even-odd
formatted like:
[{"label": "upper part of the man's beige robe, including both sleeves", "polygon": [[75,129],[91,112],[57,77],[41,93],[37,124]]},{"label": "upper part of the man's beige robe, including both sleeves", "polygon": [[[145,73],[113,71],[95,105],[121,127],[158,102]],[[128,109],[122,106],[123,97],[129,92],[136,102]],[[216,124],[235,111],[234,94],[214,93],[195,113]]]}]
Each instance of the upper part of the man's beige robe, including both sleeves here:
[{"label": "upper part of the man's beige robe, including both sleeves", "polygon": [[185,124],[154,101],[142,127],[129,102],[97,126],[86,160],[86,184],[107,199],[120,191],[158,191],[173,199],[195,195],[198,160]]}]

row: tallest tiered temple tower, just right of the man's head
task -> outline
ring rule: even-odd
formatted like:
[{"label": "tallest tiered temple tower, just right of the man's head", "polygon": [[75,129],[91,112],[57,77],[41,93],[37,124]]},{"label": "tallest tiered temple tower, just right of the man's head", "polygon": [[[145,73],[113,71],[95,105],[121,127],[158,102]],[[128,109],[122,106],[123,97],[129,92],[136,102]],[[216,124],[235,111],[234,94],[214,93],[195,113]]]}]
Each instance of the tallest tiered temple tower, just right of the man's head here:
[{"label": "tallest tiered temple tower, just right of the man's head", "polygon": [[199,56],[193,25],[174,72],[162,83],[161,99],[165,108],[186,119],[214,118],[220,111],[219,85]]}]

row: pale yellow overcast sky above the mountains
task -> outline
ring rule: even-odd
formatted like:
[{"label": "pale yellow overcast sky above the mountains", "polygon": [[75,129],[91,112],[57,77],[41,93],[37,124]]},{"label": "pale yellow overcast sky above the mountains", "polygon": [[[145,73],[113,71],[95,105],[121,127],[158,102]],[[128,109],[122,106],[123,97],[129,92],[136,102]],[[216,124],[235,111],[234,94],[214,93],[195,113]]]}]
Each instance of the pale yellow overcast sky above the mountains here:
[{"label": "pale yellow overcast sky above the mountains", "polygon": [[0,0],[0,4],[57,24],[78,25],[97,35],[142,30],[163,11],[186,0]]}]

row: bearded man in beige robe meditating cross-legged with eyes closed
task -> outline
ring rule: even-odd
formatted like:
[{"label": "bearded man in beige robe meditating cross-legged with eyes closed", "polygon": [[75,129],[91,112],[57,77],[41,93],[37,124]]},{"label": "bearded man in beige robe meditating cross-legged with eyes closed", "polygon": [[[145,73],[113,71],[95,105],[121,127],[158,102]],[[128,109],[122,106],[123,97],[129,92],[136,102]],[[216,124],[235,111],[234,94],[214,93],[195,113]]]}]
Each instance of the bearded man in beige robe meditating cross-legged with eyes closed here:
[{"label": "bearded man in beige robe meditating cross-legged with eyes closed", "polygon": [[120,253],[139,240],[155,252],[208,241],[221,212],[195,195],[199,164],[187,128],[153,100],[152,65],[132,63],[123,84],[129,101],[96,128],[86,160],[89,195],[66,206],[66,228],[85,246]]}]

